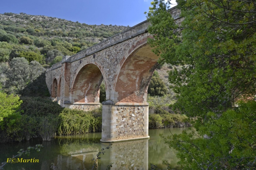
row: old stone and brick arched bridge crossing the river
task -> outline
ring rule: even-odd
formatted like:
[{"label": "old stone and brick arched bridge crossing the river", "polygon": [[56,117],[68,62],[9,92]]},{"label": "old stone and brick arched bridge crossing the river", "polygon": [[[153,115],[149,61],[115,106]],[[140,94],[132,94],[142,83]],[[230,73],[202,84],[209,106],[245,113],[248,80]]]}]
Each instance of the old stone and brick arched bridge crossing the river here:
[{"label": "old stone and brick arched bridge crossing the river", "polygon": [[[180,22],[180,10],[174,7],[170,12]],[[102,142],[149,138],[147,89],[159,56],[147,44],[152,37],[148,25],[148,21],[141,22],[73,56],[64,56],[46,71],[52,100],[62,107],[100,107],[100,84],[105,81]]]}]

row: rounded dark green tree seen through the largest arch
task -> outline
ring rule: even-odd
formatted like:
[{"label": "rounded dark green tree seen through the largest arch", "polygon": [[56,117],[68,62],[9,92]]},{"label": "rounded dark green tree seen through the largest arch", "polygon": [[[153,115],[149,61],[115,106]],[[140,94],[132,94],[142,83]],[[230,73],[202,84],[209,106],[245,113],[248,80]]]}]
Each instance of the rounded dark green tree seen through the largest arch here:
[{"label": "rounded dark green tree seen through the largest arch", "polygon": [[164,81],[159,77],[157,71],[154,72],[148,85],[148,94],[151,96],[164,96],[168,92]]}]

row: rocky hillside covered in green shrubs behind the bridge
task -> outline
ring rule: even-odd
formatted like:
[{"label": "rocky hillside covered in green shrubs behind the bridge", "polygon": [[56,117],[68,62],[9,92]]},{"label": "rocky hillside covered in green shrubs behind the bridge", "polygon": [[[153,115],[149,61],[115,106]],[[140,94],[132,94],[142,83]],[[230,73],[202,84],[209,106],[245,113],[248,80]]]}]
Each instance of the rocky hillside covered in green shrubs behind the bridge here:
[{"label": "rocky hillside covered in green shrubs behind the bridge", "polygon": [[0,46],[0,61],[27,56],[29,62],[36,58],[39,63],[49,66],[56,56],[74,55],[127,28],[87,25],[26,13],[0,14],[0,41],[8,43]]}]

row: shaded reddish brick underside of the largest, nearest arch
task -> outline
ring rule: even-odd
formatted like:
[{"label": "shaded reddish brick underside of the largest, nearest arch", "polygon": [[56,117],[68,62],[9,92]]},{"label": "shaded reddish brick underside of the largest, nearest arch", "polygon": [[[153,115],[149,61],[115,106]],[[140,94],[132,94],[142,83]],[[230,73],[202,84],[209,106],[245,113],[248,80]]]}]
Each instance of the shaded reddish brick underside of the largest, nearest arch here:
[{"label": "shaded reddish brick underside of the largest, nearest arch", "polygon": [[115,85],[120,103],[146,103],[150,79],[159,56],[146,43],[135,49],[124,61]]}]

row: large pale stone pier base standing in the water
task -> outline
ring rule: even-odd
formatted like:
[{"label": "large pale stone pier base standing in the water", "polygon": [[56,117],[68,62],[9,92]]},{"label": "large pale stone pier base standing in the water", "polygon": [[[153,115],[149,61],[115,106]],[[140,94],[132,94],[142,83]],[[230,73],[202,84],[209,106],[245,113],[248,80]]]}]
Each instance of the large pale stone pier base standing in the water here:
[{"label": "large pale stone pier base standing in the water", "polygon": [[102,102],[101,142],[145,139],[148,136],[148,103]]}]

